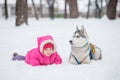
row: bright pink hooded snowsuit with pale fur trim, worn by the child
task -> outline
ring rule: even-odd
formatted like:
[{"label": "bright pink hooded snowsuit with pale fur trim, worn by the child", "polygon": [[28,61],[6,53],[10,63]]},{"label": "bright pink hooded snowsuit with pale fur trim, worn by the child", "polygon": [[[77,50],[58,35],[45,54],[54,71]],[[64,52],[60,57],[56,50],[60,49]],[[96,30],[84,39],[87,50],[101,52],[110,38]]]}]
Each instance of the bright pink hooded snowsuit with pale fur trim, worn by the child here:
[{"label": "bright pink hooded snowsuit with pale fur trim, worn by the child", "polygon": [[[61,64],[62,59],[56,52],[56,44],[52,36],[42,36],[37,39],[38,47],[28,51],[25,62],[32,66],[41,66],[41,65],[49,65],[49,64]],[[54,51],[50,56],[45,56],[43,54],[43,47],[46,43],[52,43],[54,45]]]}]

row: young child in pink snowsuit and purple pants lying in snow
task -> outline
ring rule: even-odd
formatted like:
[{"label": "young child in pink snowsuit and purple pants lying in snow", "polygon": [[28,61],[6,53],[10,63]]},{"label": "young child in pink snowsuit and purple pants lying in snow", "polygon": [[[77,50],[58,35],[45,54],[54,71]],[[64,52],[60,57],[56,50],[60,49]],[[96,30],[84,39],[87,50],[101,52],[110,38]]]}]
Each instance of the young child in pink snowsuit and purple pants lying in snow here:
[{"label": "young child in pink snowsuit and purple pants lying in snow", "polygon": [[50,35],[38,37],[38,47],[28,51],[26,56],[13,54],[12,60],[25,60],[32,66],[61,64],[62,59],[56,51],[56,44]]}]

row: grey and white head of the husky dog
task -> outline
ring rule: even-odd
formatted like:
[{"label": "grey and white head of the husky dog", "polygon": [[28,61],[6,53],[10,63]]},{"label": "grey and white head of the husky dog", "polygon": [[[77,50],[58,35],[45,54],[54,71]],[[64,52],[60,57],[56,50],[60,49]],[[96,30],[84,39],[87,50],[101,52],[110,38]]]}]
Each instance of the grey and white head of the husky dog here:
[{"label": "grey and white head of the husky dog", "polygon": [[73,34],[73,38],[69,42],[72,46],[75,47],[82,47],[89,42],[88,35],[84,26],[82,26],[81,29],[79,29],[78,26],[76,27],[76,31]]}]

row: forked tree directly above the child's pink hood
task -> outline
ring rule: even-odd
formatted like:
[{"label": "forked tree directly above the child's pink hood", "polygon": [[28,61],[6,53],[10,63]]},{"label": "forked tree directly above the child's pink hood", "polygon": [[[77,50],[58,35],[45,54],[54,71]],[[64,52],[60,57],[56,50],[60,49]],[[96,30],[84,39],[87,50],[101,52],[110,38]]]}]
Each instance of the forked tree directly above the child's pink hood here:
[{"label": "forked tree directly above the child's pink hood", "polygon": [[54,3],[55,0],[47,0],[48,6],[49,6],[49,17],[51,19],[54,18]]}]

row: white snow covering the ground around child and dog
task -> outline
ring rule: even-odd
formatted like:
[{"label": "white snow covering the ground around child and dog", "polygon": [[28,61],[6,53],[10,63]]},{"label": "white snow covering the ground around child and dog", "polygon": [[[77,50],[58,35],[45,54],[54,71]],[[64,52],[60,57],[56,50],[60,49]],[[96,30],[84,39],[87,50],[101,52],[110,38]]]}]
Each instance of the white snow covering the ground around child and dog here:
[{"label": "white snow covering the ground around child and dog", "polygon": [[[15,19],[0,19],[0,79],[1,80],[120,80],[120,19],[29,19],[29,25],[15,26]],[[90,64],[72,65],[69,40],[84,25],[91,43],[102,49],[103,59]],[[37,47],[37,37],[50,34],[63,59],[60,65],[33,67],[24,61],[12,61],[13,52],[26,55]]]}]

